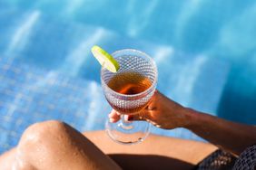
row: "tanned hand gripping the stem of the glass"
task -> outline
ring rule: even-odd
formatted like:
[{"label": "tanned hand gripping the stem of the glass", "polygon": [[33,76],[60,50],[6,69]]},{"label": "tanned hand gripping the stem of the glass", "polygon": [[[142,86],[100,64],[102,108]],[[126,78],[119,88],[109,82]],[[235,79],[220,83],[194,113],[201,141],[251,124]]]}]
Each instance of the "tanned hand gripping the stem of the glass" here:
[{"label": "tanned hand gripping the stem of the glass", "polygon": [[[112,110],[109,118],[111,122],[117,122],[120,119],[120,114]],[[146,120],[156,127],[172,129],[186,127],[189,124],[189,111],[156,91],[146,109],[136,115],[125,115],[124,118],[128,121]]]}]

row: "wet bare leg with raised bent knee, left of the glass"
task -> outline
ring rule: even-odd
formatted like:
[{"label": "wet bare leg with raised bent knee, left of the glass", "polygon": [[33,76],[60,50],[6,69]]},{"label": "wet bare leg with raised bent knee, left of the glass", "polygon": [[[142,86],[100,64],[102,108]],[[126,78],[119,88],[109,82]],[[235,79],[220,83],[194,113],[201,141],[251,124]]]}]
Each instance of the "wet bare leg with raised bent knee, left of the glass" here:
[{"label": "wet bare leg with raised bent knee, left of the glass", "polygon": [[120,169],[81,133],[57,121],[28,127],[19,145],[4,156],[1,169],[5,161],[10,162],[5,169]]}]

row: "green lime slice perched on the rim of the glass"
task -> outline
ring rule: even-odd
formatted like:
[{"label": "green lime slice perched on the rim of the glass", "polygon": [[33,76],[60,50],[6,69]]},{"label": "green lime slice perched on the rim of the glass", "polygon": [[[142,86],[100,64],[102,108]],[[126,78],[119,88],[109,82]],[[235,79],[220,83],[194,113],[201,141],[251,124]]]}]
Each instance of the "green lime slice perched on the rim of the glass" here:
[{"label": "green lime slice perched on the rim of the glass", "polygon": [[94,45],[91,50],[94,57],[101,63],[101,65],[108,71],[116,72],[119,69],[119,64],[114,60],[113,56],[108,52],[105,52],[101,47]]}]

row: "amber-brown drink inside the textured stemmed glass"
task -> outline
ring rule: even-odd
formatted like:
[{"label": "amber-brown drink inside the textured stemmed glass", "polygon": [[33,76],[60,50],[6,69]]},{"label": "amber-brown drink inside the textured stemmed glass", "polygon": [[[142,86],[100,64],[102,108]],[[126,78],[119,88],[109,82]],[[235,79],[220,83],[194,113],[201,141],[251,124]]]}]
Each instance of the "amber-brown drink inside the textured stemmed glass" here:
[{"label": "amber-brown drink inside the textured stemmed glass", "polygon": [[[120,74],[116,74],[113,78],[108,82],[108,87],[112,90],[125,94],[125,95],[134,95],[139,94],[147,89],[149,89],[152,85],[151,80],[147,77],[143,76],[138,72],[123,72]],[[143,98],[143,97],[142,97]],[[116,111],[123,114],[133,114],[139,112],[144,109],[149,101],[143,102],[143,104],[139,104],[136,107],[117,107],[114,103],[109,101],[110,105]]]}]

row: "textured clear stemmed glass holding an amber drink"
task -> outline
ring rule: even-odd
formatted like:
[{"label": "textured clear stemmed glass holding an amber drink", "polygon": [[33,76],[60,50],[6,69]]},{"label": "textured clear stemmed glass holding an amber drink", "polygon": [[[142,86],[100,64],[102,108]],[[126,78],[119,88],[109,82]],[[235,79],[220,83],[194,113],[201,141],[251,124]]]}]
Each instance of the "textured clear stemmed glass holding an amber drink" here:
[{"label": "textured clear stemmed glass holding an amber drink", "polygon": [[124,115],[139,114],[145,109],[156,88],[157,67],[146,53],[133,49],[113,52],[120,69],[113,73],[102,68],[101,81],[105,98],[121,119],[106,122],[109,137],[121,144],[142,142],[150,133],[147,121],[128,121]]}]

